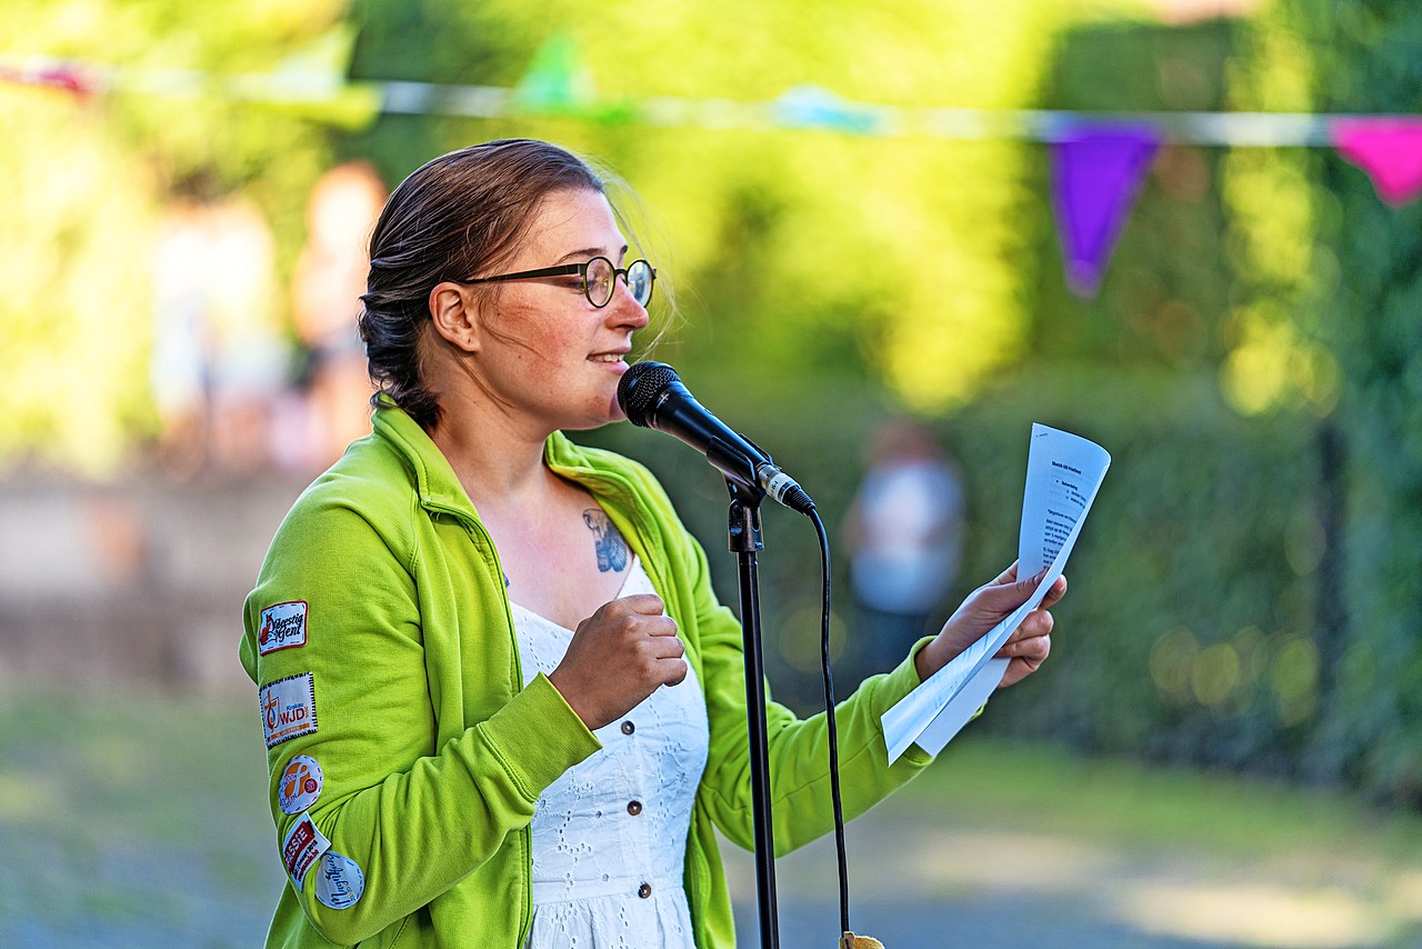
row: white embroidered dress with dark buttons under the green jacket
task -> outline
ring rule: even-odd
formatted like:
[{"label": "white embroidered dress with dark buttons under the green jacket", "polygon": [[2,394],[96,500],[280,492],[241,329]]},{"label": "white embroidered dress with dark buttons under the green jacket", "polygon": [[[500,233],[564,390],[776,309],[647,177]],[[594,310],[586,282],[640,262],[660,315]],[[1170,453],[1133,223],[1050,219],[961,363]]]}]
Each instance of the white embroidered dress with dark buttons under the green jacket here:
[{"label": "white embroidered dress with dark buttons under the green jacket", "polygon": [[[634,556],[619,596],[653,593]],[[518,603],[523,684],[550,673],[573,633]],[[681,888],[708,724],[695,672],[594,733],[603,748],[547,787],[533,811],[529,949],[694,949]]]}]

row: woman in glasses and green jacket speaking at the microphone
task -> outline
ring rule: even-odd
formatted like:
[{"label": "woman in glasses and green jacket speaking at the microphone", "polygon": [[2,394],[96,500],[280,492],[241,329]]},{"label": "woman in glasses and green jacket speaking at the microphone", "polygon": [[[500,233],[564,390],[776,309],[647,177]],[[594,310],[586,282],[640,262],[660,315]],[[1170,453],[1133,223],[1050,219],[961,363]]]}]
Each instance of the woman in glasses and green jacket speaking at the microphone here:
[{"label": "woman in glasses and green jacket speaking at the microphone", "polygon": [[[739,623],[650,472],[560,434],[621,418],[654,272],[600,178],[536,141],[414,172],[370,256],[374,433],[246,603],[292,882],[269,945],[734,945],[714,828],[751,845]],[[1030,590],[1008,569],[843,703],[848,815],[929,763],[887,767],[880,714]],[[1022,623],[1004,682],[1049,630]],[[826,733],[768,719],[788,851],[832,827]]]}]

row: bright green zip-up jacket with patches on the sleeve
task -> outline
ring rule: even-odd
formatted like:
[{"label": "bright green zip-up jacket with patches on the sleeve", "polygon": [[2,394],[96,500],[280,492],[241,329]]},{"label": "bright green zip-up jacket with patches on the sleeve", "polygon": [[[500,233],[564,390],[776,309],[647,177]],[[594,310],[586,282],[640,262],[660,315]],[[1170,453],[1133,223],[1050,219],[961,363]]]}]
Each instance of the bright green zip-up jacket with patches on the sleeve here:
[{"label": "bright green zip-up jacket with patches on the sleeve", "polygon": [[[710,748],[687,839],[697,946],[735,945],[714,828],[752,848],[741,625],[651,472],[547,440],[641,558],[705,691]],[[259,686],[272,815],[287,868],[270,946],[519,949],[539,794],[602,747],[553,684],[523,687],[499,553],[448,461],[385,403],[296,501],[247,596],[242,664]],[[879,717],[912,660],[838,709],[846,817],[917,774],[886,764]],[[768,703],[778,854],[832,829],[825,716]],[[340,906],[340,908],[337,908]]]}]

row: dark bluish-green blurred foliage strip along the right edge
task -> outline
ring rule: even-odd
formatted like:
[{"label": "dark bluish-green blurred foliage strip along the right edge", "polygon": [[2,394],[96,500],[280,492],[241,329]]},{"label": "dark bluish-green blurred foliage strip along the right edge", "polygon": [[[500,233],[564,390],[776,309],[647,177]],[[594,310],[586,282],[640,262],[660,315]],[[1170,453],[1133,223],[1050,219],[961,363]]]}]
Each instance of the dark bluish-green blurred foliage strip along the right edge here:
[{"label": "dark bluish-green blurred foliage strip along the right edge", "polygon": [[[1416,112],[1422,9],[1384,1],[1283,4],[1315,50],[1321,110]],[[1324,248],[1338,262],[1322,324],[1342,369],[1348,626],[1320,754],[1330,773],[1422,805],[1422,203],[1382,203],[1367,176],[1320,161]]]}]

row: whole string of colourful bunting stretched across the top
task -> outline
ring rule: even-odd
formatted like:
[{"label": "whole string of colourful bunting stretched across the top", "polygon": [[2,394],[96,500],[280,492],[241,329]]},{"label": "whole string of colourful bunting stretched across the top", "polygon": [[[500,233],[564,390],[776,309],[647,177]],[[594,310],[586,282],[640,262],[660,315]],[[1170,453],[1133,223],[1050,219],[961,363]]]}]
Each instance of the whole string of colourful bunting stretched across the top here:
[{"label": "whole string of colourful bunting stretched across the top", "polygon": [[818,85],[776,100],[620,97],[597,94],[576,40],[555,33],[513,88],[434,83],[350,83],[354,36],[337,27],[277,70],[222,75],[193,70],[98,67],[53,57],[0,55],[0,83],[63,90],[75,98],[138,94],[219,97],[296,110],[363,128],[380,114],[468,118],[560,117],[606,125],[823,129],[848,135],[926,135],[1047,142],[1051,199],[1072,292],[1089,297],[1162,142],[1214,147],[1332,147],[1372,179],[1382,201],[1422,196],[1422,115],[1311,112],[1066,112],[1049,110],[909,108],[855,102]]}]

